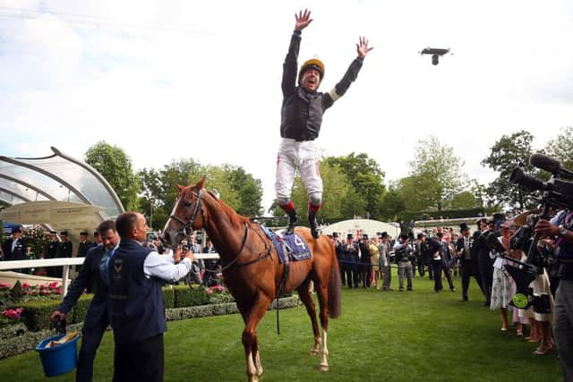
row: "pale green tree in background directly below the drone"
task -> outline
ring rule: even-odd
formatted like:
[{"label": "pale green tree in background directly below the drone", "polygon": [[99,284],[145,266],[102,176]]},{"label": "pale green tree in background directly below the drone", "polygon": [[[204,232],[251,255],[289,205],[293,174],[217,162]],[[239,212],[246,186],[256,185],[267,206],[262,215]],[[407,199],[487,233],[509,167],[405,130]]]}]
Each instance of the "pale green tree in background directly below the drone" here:
[{"label": "pale green tree in background directly below the drone", "polygon": [[[406,186],[412,187],[412,192],[419,195],[420,200],[416,205],[419,209],[416,209],[437,208],[441,211],[446,207],[449,200],[466,185],[467,176],[461,169],[463,165],[464,161],[454,155],[454,149],[442,145],[438,138],[430,136],[418,140],[414,160],[410,162],[412,170],[406,181]],[[412,203],[415,197],[407,200]],[[415,210],[408,202],[406,208]]]}]

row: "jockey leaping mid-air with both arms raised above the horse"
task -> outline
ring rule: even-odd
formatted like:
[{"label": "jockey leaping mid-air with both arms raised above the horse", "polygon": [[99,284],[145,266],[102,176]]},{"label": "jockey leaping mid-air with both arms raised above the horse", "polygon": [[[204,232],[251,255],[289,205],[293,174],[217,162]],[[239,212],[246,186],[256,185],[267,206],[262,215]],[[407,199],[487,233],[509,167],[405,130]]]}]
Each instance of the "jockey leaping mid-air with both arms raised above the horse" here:
[{"label": "jockey leaping mid-air with both arms raised above the horse", "polygon": [[278,149],[275,191],[278,206],[288,215],[285,234],[292,234],[295,232],[298,216],[290,194],[295,181],[295,171],[300,172],[309,197],[309,225],[312,236],[318,238],[320,233],[316,213],[322,204],[322,179],[314,140],[321,131],[322,115],[356,80],[364,57],[372,47],[368,47],[366,38],[359,38],[356,44],[358,56],[350,64],[342,80],[328,93],[321,93],[317,91],[324,78],[324,64],[321,60],[311,58],[305,61],[298,76],[296,75],[301,34],[312,22],[311,13],[308,10],[300,11],[295,14],[295,19],[295,31],[283,64],[283,105],[280,122],[282,140]]}]

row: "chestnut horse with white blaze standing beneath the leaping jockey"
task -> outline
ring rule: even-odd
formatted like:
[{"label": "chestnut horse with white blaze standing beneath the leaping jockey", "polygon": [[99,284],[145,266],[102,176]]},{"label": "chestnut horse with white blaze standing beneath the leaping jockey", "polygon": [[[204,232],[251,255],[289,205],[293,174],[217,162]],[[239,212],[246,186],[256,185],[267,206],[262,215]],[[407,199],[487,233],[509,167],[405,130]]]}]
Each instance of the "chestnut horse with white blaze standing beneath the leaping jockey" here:
[{"label": "chestnut horse with white blaze standing beneath the leaping jockey", "polygon": [[[286,266],[279,263],[277,251],[261,225],[239,216],[233,208],[206,191],[204,182],[203,177],[195,185],[177,186],[179,196],[163,230],[163,239],[174,246],[189,230],[204,228],[209,235],[221,259],[225,284],[243,316],[243,345],[249,381],[258,381],[261,377],[257,327],[279,292],[298,292],[312,321],[314,344],[311,353],[320,351],[320,369],[328,370],[329,317],[337,318],[340,314],[340,273],[334,244],[326,236],[313,239],[308,228],[297,228],[296,233],[308,244],[312,257],[290,262],[284,286],[279,287]],[[321,308],[322,335],[309,291],[311,280]]]}]

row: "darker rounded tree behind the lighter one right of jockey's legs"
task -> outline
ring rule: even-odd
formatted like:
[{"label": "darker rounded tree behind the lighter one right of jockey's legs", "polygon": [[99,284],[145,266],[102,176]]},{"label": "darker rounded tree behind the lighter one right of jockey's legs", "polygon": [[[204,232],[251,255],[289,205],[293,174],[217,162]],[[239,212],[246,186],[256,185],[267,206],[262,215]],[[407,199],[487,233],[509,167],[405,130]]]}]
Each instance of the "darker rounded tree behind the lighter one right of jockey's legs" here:
[{"label": "darker rounded tree behind the lighter one right of jockey's legs", "polygon": [[348,183],[355,189],[354,202],[362,204],[359,200],[365,201],[363,212],[370,213],[372,216],[380,215],[381,199],[386,188],[384,172],[374,159],[366,154],[355,155],[353,152],[346,157],[327,157],[323,163],[328,166],[338,166],[346,175]]}]

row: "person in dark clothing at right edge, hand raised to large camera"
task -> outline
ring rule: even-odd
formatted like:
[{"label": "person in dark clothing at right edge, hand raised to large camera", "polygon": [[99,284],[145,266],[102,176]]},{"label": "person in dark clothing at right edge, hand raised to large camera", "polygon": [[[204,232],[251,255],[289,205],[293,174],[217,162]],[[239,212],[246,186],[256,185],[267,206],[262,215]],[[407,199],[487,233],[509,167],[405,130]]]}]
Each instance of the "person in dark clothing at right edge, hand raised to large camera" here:
[{"label": "person in dark clothing at right edge, hand raised to large camera", "polygon": [[535,232],[556,238],[555,259],[560,285],[555,298],[553,332],[563,378],[573,380],[573,211],[561,210],[551,221],[540,219]]}]

